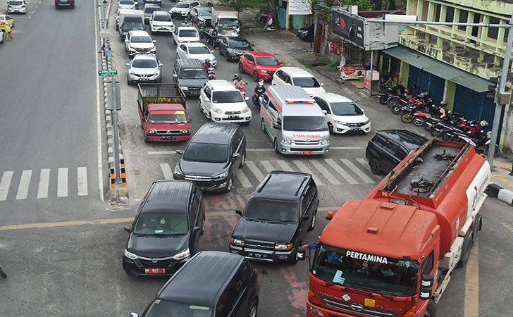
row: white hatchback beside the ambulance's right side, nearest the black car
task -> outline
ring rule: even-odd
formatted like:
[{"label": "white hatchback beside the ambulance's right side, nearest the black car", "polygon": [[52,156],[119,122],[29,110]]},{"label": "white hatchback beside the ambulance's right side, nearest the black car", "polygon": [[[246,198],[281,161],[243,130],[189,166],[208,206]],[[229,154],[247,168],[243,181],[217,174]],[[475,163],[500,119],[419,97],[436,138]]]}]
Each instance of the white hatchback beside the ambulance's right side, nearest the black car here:
[{"label": "white hatchback beside the ambulance's right side, nearest the black car", "polygon": [[326,115],[330,133],[371,132],[371,120],[351,99],[326,92],[314,96]]}]

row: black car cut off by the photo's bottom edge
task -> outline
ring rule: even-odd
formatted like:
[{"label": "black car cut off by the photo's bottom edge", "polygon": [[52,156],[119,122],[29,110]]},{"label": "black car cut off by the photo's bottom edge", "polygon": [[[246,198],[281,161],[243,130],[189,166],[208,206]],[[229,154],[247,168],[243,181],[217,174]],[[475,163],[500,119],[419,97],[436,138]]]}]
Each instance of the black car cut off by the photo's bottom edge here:
[{"label": "black car cut off by the photo's bottom edge", "polygon": [[257,277],[257,270],[240,255],[199,252],[155,294],[141,317],[255,317]]}]

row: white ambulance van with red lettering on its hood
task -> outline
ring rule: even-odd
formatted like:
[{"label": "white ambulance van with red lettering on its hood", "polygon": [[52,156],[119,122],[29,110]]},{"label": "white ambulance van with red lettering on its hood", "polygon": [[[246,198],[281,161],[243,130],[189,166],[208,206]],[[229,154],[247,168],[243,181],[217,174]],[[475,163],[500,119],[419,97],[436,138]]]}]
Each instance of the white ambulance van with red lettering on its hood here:
[{"label": "white ambulance van with red lettering on its hood", "polygon": [[273,141],[276,153],[328,153],[330,132],[324,113],[301,87],[268,87],[261,104],[261,129]]}]

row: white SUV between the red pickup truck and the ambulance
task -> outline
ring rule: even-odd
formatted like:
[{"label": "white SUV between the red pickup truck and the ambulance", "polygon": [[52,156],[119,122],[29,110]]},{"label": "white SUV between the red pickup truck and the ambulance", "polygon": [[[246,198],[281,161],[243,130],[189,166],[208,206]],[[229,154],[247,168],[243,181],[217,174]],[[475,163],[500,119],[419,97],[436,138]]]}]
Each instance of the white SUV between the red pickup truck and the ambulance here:
[{"label": "white SUV between the red pickup truck and the ambulance", "polygon": [[251,120],[245,98],[228,80],[206,82],[199,94],[199,109],[214,122],[249,123]]}]

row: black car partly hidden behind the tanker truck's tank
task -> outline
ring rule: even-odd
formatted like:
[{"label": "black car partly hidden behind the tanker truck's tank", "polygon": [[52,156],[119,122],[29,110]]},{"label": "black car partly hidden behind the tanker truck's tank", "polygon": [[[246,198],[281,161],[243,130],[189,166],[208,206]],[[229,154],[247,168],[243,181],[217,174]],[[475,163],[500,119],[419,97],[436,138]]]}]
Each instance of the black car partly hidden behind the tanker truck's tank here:
[{"label": "black car partly hidden behind the tanker truck's tank", "polygon": [[408,130],[383,130],[369,141],[365,157],[371,172],[379,175],[390,173],[409,152],[421,147],[428,139]]}]

